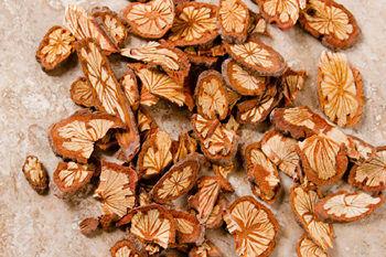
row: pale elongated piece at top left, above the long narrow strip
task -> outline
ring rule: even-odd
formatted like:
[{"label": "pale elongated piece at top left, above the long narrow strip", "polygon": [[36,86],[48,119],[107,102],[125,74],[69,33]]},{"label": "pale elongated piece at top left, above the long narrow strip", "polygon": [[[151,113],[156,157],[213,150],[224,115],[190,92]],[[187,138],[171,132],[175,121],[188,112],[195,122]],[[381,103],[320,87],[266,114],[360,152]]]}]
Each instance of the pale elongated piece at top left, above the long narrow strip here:
[{"label": "pale elongated piece at top left, above the long narrow strip", "polygon": [[64,24],[77,41],[94,38],[105,54],[119,53],[114,36],[83,7],[68,4],[64,13]]}]

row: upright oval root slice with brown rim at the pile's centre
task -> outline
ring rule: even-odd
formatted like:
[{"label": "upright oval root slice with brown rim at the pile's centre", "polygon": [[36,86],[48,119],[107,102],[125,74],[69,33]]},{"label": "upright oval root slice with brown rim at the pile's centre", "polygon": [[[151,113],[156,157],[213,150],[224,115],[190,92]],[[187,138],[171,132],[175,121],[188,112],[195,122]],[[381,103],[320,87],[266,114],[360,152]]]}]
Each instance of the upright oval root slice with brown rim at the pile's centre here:
[{"label": "upright oval root slice with brown rim at the pile's centre", "polygon": [[200,74],[194,98],[197,113],[205,119],[219,120],[228,115],[228,95],[221,73],[214,69]]}]

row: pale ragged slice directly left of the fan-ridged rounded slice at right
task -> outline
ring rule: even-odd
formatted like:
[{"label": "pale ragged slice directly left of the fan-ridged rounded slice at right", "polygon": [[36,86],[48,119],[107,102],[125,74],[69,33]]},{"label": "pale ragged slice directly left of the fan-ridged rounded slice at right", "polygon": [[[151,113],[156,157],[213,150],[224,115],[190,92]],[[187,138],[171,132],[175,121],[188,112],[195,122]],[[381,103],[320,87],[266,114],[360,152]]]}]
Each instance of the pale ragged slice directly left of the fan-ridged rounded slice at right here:
[{"label": "pale ragged slice directly left of the fan-ridged rounded slice at right", "polygon": [[278,130],[272,129],[261,139],[261,150],[269,160],[282,172],[298,180],[299,156],[294,150],[298,140],[286,137]]}]

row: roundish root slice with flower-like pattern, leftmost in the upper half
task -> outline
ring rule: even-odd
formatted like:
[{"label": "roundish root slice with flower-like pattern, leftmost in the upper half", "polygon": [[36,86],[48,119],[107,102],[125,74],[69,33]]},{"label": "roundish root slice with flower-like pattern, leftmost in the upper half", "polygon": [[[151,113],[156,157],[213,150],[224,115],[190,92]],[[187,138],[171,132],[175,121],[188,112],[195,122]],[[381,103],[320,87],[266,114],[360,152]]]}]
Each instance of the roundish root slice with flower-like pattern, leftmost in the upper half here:
[{"label": "roundish root slice with flower-like pattern, leftmost in the upper half", "polygon": [[40,43],[36,61],[44,72],[50,72],[63,64],[74,52],[75,38],[60,25],[49,30]]}]

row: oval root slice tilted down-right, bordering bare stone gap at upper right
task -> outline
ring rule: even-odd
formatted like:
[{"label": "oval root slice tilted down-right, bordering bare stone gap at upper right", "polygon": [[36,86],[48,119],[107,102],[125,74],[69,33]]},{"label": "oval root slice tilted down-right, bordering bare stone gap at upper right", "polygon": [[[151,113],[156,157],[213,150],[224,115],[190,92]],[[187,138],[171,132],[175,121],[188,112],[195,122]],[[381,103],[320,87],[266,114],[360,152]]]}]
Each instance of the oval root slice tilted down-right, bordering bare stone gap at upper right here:
[{"label": "oval root slice tilted down-right, bordering bare stone gap at upper right", "polygon": [[224,42],[228,54],[247,71],[260,76],[280,76],[287,63],[274,49],[249,36],[243,44]]}]

